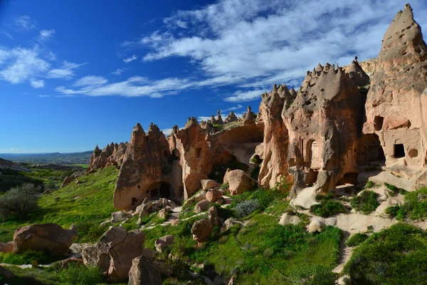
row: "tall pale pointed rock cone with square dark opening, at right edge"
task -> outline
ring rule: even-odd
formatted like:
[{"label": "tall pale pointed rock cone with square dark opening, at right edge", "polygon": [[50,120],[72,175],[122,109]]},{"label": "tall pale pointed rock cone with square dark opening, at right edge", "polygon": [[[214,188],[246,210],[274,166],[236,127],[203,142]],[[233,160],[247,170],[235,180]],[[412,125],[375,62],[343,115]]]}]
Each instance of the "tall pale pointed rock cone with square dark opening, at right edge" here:
[{"label": "tall pale pointed rock cone with square dark opening, at right edge", "polygon": [[375,134],[386,165],[426,165],[427,46],[411,6],[387,29],[365,105],[365,134]]}]

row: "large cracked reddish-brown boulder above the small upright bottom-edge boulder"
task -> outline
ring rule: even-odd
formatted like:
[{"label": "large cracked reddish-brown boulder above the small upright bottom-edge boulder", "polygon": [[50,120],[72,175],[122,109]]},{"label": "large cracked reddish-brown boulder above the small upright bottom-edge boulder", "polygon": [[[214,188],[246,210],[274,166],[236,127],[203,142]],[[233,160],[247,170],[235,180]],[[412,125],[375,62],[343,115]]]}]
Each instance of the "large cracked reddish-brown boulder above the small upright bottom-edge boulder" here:
[{"label": "large cracked reddish-brown boulder above the small upright bottom-edge boulder", "polygon": [[144,241],[144,232],[110,227],[99,242],[83,249],[83,261],[85,265],[100,267],[109,281],[122,282],[127,279],[132,259],[142,255]]}]

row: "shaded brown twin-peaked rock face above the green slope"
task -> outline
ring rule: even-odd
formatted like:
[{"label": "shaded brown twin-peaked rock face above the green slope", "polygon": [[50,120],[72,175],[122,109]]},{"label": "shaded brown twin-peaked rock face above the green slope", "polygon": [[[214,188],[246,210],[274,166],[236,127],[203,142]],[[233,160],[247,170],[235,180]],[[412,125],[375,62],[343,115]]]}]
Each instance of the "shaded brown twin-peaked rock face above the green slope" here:
[{"label": "shaded brown twin-peaked rock face above the green slope", "polygon": [[130,209],[145,198],[174,197],[169,160],[169,144],[157,125],[146,134],[137,124],[117,177],[114,206]]}]

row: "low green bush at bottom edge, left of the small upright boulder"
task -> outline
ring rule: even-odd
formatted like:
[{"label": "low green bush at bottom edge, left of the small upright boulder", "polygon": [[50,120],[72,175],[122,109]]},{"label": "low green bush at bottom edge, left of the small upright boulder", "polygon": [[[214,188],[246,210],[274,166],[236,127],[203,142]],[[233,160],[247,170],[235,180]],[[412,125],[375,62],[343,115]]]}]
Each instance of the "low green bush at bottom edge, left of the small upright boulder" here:
[{"label": "low green bush at bottom edge, left of the small upright boulder", "polygon": [[60,271],[60,281],[70,285],[93,285],[104,281],[100,268],[70,264],[68,269]]}]

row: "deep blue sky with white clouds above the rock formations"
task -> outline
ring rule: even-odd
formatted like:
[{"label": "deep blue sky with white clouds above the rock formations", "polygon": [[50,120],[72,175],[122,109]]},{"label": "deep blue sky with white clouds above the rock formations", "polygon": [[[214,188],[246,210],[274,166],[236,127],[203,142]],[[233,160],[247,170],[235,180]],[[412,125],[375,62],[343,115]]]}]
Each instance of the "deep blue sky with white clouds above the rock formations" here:
[{"label": "deep blue sky with white clouds above the rock formations", "polygon": [[[74,152],[258,109],[317,63],[374,57],[407,0],[0,0],[0,153]],[[342,3],[344,2],[344,3]],[[427,28],[427,4],[412,1]]]}]

